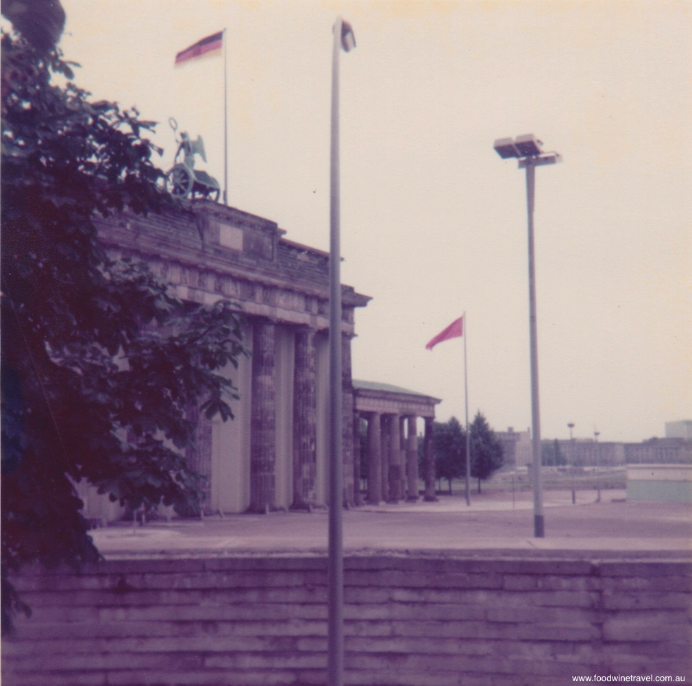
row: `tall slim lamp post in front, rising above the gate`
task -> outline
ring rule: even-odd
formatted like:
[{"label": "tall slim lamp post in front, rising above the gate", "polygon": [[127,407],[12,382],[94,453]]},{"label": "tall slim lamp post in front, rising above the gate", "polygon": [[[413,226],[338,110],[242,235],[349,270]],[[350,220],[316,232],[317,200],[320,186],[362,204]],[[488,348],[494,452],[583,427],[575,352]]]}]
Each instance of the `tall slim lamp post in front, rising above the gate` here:
[{"label": "tall slim lamp post in front, rising above the gate", "polygon": [[341,248],[339,203],[339,53],[356,46],[351,25],[334,24],[331,60],[331,160],[329,201],[329,555],[327,672],[329,686],[343,685],[343,403],[341,356]]}]

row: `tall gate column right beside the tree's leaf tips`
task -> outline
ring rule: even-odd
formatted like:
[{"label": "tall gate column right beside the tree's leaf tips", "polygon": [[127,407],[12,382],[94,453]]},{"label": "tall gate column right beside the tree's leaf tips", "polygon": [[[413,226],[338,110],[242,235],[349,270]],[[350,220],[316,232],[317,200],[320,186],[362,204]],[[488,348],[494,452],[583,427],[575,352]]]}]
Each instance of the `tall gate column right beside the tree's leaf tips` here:
[{"label": "tall gate column right beside the tree's leaf tips", "polygon": [[250,434],[250,509],[274,507],[276,460],[275,324],[253,322],[253,381]]}]

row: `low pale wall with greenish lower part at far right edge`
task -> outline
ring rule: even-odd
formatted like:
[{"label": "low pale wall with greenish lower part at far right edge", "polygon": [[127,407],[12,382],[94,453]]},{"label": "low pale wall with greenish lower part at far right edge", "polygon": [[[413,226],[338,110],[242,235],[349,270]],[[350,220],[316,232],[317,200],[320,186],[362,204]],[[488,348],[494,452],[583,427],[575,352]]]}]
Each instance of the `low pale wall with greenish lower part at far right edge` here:
[{"label": "low pale wall with greenish lower part at far right edge", "polygon": [[692,465],[628,464],[627,498],[692,502]]}]

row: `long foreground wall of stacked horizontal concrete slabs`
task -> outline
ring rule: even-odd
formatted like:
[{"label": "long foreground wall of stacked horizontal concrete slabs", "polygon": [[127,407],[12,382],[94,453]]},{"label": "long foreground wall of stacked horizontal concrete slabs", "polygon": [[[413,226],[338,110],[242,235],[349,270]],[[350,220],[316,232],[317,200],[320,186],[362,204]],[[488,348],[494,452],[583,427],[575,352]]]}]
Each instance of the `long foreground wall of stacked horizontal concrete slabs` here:
[{"label": "long foreground wall of stacked horizontal concrete slabs", "polygon": [[[24,574],[4,686],[324,684],[326,561],[111,561]],[[345,560],[345,683],[540,686],[692,677],[692,563]]]}]

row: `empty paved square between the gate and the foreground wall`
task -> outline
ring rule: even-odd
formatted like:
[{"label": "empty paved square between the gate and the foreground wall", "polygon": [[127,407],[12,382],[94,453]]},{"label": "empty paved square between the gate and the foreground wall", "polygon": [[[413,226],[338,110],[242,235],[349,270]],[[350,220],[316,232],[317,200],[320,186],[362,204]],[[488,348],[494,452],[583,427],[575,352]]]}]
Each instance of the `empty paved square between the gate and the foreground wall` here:
[{"label": "empty paved square between the gate and the foreground wall", "polygon": [[[569,491],[544,496],[545,538],[534,538],[530,493],[461,496],[439,501],[359,507],[343,513],[347,554],[425,551],[537,555],[590,551],[604,556],[691,557],[692,505],[626,502],[624,491]],[[204,520],[119,524],[93,537],[107,557],[131,554],[233,554],[327,551],[325,510],[239,514]]]}]

